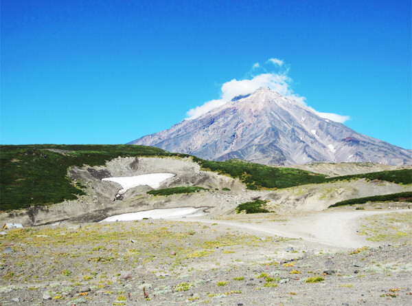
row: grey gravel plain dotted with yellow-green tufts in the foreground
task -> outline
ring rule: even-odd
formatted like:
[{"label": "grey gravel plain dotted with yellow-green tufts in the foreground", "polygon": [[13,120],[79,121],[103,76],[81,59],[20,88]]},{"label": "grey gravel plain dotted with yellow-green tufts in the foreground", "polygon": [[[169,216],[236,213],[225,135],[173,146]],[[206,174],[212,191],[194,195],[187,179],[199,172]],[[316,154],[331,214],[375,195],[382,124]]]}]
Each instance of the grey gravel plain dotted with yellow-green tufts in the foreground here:
[{"label": "grey gravel plain dotted with yellow-green tufts in the foreground", "polygon": [[[364,219],[372,231],[358,234],[385,245],[356,249],[251,234],[221,220],[8,230],[0,304],[411,305],[411,241],[385,242],[393,232],[410,237],[409,215]],[[379,232],[374,218],[393,232]]]}]

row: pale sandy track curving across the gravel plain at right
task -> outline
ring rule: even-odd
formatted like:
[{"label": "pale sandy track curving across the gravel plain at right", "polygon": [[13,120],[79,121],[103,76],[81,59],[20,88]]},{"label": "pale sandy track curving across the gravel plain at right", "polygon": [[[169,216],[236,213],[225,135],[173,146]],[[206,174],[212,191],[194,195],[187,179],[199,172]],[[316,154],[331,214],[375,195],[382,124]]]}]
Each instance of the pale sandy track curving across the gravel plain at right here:
[{"label": "pale sandy track curving across the gravel plain at right", "polygon": [[313,212],[304,217],[290,221],[274,223],[260,219],[260,223],[245,223],[244,221],[226,221],[205,218],[182,218],[179,221],[218,223],[220,225],[241,228],[248,232],[260,232],[289,238],[301,238],[304,241],[330,245],[337,248],[361,248],[364,245],[374,246],[378,243],[367,241],[365,237],[356,234],[361,219],[371,215],[385,213],[412,212],[412,210],[380,210],[380,211],[326,211]]}]

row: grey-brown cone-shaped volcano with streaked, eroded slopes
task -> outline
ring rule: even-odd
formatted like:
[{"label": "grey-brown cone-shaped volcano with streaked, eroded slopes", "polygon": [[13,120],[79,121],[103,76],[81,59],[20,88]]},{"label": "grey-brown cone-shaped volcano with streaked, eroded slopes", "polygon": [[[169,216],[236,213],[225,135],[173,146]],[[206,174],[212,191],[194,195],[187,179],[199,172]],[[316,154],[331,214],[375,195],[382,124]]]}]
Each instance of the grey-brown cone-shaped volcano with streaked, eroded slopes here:
[{"label": "grey-brown cone-shaped volcano with streaked, eroded slopes", "polygon": [[129,144],[157,146],[207,160],[240,158],[261,164],[412,164],[411,151],[321,118],[295,100],[262,87],[199,118],[183,120]]}]

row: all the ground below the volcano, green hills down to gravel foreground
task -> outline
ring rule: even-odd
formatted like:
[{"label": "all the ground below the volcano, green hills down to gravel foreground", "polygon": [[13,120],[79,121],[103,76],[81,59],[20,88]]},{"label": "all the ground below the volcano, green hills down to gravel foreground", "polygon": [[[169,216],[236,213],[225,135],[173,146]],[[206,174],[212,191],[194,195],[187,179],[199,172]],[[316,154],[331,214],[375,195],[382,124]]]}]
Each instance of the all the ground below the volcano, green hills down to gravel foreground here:
[{"label": "all the ground below the volcano, green hills down to gravel foreground", "polygon": [[1,305],[411,304],[410,166],[102,147],[2,146]]}]

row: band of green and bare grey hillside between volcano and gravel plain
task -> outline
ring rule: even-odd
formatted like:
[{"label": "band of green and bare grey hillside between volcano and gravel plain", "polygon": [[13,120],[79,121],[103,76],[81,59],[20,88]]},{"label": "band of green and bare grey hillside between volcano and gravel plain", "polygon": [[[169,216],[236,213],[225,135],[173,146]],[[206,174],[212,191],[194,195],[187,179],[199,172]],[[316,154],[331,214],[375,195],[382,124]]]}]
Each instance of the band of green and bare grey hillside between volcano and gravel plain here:
[{"label": "band of green and bare grey hillside between volcano and gravel plain", "polygon": [[[255,199],[268,201],[271,211],[288,214],[323,210],[345,199],[411,191],[412,183],[411,168],[328,178],[300,169],[214,162],[132,145],[8,146],[2,148],[1,164],[0,208],[6,212],[0,221],[25,225],[100,221],[122,213],[177,207],[208,208],[211,216],[232,215],[238,205]],[[157,190],[205,189],[150,195],[154,187],[135,186],[120,195],[122,186],[102,180],[152,173],[173,175]]]}]

